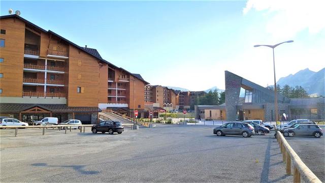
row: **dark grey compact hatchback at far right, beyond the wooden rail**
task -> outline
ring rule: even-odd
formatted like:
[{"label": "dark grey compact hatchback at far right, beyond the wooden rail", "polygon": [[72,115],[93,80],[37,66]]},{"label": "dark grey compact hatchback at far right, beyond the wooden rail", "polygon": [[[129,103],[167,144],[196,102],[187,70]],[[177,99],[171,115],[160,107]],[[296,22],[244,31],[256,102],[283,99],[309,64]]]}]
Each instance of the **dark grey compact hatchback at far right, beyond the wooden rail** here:
[{"label": "dark grey compact hatchback at far right, beyond the wooden rail", "polygon": [[295,128],[288,128],[283,131],[285,137],[293,137],[295,135],[307,135],[319,138],[323,135],[323,131],[318,125],[302,125],[299,124]]}]

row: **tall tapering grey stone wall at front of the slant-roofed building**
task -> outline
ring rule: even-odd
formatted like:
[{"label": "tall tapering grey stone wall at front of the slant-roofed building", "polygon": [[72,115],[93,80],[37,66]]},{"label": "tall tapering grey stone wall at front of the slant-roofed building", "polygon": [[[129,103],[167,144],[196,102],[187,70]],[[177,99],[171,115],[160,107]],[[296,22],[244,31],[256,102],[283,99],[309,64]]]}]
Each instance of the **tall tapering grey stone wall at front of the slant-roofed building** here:
[{"label": "tall tapering grey stone wall at front of the slant-roofed building", "polygon": [[224,72],[224,78],[226,120],[235,121],[242,78],[228,71]]}]

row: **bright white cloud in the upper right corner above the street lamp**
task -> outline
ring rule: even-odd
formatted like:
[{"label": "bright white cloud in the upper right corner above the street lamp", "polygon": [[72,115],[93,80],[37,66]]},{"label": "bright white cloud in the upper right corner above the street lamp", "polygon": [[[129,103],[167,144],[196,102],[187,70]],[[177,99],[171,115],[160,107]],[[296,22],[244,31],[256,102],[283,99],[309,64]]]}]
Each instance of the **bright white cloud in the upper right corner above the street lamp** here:
[{"label": "bright white cloud in the upper right corner above the street lamp", "polygon": [[266,32],[274,38],[292,38],[308,28],[309,33],[319,33],[325,28],[324,0],[248,0],[243,13],[255,10],[266,18]]}]

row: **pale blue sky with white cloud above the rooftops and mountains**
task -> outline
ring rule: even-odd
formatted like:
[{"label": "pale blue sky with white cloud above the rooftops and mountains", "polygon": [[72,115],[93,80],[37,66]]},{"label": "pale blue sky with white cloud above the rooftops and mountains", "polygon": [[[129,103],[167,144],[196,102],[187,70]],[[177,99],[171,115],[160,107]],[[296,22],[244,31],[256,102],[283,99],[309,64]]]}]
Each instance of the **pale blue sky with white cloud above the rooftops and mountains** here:
[{"label": "pale blue sky with white cloud above the rooftops and mountains", "polygon": [[259,85],[325,67],[325,1],[1,1],[149,83],[224,89],[228,70]]}]

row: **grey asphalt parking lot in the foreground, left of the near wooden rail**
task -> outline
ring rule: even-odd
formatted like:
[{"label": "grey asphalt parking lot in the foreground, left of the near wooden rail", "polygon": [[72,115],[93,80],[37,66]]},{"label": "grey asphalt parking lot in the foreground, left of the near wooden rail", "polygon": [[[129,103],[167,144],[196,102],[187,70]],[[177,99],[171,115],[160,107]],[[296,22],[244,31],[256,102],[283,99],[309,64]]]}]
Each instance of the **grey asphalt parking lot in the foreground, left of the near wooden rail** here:
[{"label": "grey asphalt parking lot in the foreground, left of the near wooden rail", "polygon": [[[1,182],[288,182],[273,135],[217,137],[211,126],[121,135],[0,130]],[[322,139],[322,138],[321,138]],[[290,142],[289,142],[290,143]],[[323,158],[323,157],[320,157]]]}]

